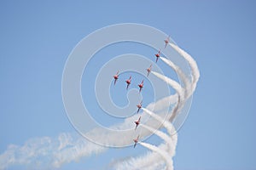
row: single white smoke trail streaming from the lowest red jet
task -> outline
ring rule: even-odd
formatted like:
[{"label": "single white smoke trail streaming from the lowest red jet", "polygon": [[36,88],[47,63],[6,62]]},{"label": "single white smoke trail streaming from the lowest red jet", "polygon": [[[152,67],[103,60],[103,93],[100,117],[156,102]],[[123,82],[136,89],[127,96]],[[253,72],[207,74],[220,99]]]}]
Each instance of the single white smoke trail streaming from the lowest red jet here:
[{"label": "single white smoke trail streaming from the lowest red jet", "polygon": [[153,144],[147,144],[140,142],[144,147],[148,148],[149,150],[155,151],[162,156],[165,161],[166,161],[166,167],[167,170],[173,170],[173,165],[172,165],[172,156],[170,156],[165,150],[160,150],[160,148],[154,146]]}]

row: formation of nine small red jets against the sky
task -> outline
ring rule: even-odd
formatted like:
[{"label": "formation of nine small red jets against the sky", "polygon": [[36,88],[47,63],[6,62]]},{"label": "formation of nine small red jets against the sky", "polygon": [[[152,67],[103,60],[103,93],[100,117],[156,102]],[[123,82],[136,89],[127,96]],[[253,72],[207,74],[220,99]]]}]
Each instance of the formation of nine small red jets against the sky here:
[{"label": "formation of nine small red jets against the sky", "polygon": [[[165,48],[166,48],[167,44],[170,42],[170,36],[168,36],[168,37],[164,40],[164,42],[166,43],[166,44],[165,44]],[[157,63],[158,59],[160,58],[160,54],[161,54],[161,50],[159,50],[157,54],[154,54],[154,56],[156,57],[156,59],[155,59],[155,62],[156,62],[156,63]],[[151,69],[152,69],[152,65],[150,65],[150,66],[146,69],[146,71],[148,72],[147,77],[149,76],[149,73],[150,73]],[[118,79],[119,79],[119,71],[117,71],[117,73],[116,73],[115,75],[113,75],[113,80],[114,80],[113,84],[114,84],[114,85],[116,84],[116,82],[117,82]],[[125,80],[125,82],[126,82],[126,90],[128,90],[128,88],[129,88],[129,86],[130,86],[130,84],[131,84],[131,77],[129,77],[129,79]],[[141,91],[142,91],[142,89],[143,89],[143,85],[144,85],[144,80],[143,80],[141,83],[139,83],[139,84],[137,85],[137,86],[139,87],[139,93],[141,93]],[[140,109],[142,108],[142,106],[143,106],[142,104],[143,104],[143,101],[141,101],[141,102],[137,105],[137,113],[138,113],[138,112],[140,111]],[[136,125],[135,130],[137,129],[137,127],[138,127],[138,125],[140,124],[140,122],[141,122],[141,116],[139,116],[138,120],[134,122],[135,125]],[[138,139],[139,139],[139,135],[137,136],[137,139],[133,139],[133,141],[134,141],[133,148],[136,147],[136,145],[137,145],[137,143],[138,143]]]}]

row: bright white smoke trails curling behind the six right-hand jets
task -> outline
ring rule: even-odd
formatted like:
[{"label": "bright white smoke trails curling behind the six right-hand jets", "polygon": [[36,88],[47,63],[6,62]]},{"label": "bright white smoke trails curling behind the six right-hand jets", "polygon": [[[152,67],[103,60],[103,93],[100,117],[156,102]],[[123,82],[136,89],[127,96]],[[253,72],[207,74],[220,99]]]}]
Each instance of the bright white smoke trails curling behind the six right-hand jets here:
[{"label": "bright white smoke trails curling behind the six right-hand jets", "polygon": [[[182,81],[184,82],[184,88],[182,88],[177,82],[173,81],[172,79],[165,77],[157,72],[152,72],[156,77],[159,77],[161,80],[165,81],[170,86],[172,86],[172,88],[174,88],[177,92],[177,104],[175,105],[174,109],[172,110],[172,113],[170,114],[171,115],[170,121],[173,121],[177,116],[178,111],[180,111],[183,108],[183,104],[186,101],[186,99],[189,99],[189,97],[194,93],[196,83],[198,82],[200,77],[200,73],[195,60],[189,54],[187,54],[186,52],[183,51],[183,49],[178,48],[176,45],[172,43],[169,43],[169,45],[171,45],[172,48],[174,48],[177,51],[177,53],[181,54],[183,58],[189,62],[189,66],[192,71],[192,81],[189,82],[188,81],[189,78],[183,74],[183,71],[181,71],[177,67],[177,65],[174,65],[172,61],[169,59],[160,57],[160,59],[162,59],[167,65],[171,66],[172,69],[177,71],[177,74],[182,78]],[[172,95],[172,96],[175,96],[175,95]],[[171,99],[171,98],[167,98],[167,99]],[[142,109],[144,111],[143,113],[146,113],[149,116],[152,116],[158,122],[163,122],[163,118],[161,116],[158,116],[157,114],[154,114],[153,111],[148,111],[148,109],[145,109],[145,108],[142,108]],[[162,162],[160,161],[160,156],[161,156],[166,161],[166,169],[172,170],[173,169],[172,156],[174,156],[175,154],[175,149],[177,144],[177,133],[174,133],[175,129],[174,127],[172,127],[172,123],[163,122],[163,127],[166,127],[167,132],[170,136],[153,127],[148,127],[147,125],[143,125],[143,124],[141,126],[144,128],[147,128],[151,132],[154,132],[156,135],[160,136],[161,139],[165,140],[167,146],[169,147],[161,147],[162,144],[160,145],[160,147],[156,147],[152,144],[141,142],[140,144],[142,144],[144,147],[148,148],[149,150],[152,150],[158,153],[159,156],[154,155],[154,153],[152,153],[152,154],[148,154],[147,156],[144,156],[144,159],[142,158],[138,159],[138,161],[136,159],[131,159],[128,161],[130,163],[127,163],[127,162],[125,163],[125,165],[128,164],[130,165],[130,167],[129,166],[121,167],[121,168],[118,167],[117,169],[125,169],[125,168],[136,169],[137,168],[134,166],[131,167],[131,165],[137,165],[137,166],[143,165],[142,169],[144,169],[145,167],[147,168],[147,166],[149,167],[150,165],[154,165],[159,168],[160,164],[162,164]],[[145,163],[145,161],[148,163]]]}]

